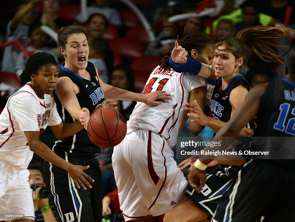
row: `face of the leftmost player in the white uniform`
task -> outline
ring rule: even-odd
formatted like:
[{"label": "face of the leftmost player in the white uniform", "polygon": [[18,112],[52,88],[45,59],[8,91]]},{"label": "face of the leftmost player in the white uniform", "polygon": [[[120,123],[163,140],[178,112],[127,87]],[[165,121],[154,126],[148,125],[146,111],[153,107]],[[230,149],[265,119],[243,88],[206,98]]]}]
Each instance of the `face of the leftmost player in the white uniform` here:
[{"label": "face of the leftmost player in the white uniform", "polygon": [[41,66],[36,74],[31,74],[31,84],[39,98],[52,94],[58,80],[58,67],[55,64]]}]

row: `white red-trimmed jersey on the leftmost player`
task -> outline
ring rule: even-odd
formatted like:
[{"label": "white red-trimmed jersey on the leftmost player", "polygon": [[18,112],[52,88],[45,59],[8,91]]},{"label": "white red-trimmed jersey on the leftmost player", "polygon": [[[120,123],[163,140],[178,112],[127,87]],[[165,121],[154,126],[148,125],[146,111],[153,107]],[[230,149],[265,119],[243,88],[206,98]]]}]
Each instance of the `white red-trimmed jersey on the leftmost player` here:
[{"label": "white red-trimmed jersey on the leftmost player", "polygon": [[25,169],[33,157],[24,131],[40,131],[61,122],[52,95],[38,98],[27,83],[9,97],[0,115],[0,159]]}]

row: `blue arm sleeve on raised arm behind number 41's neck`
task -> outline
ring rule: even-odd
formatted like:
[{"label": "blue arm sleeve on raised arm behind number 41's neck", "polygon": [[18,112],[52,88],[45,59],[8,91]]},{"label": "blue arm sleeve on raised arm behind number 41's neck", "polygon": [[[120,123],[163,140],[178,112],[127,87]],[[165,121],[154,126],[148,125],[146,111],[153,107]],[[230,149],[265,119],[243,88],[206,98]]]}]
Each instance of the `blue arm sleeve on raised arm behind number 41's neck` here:
[{"label": "blue arm sleeve on raised arm behind number 41's neck", "polygon": [[211,74],[211,67],[194,59],[187,57],[186,63],[175,63],[172,61],[172,57],[169,58],[169,64],[177,72],[188,72],[194,75],[208,78]]}]

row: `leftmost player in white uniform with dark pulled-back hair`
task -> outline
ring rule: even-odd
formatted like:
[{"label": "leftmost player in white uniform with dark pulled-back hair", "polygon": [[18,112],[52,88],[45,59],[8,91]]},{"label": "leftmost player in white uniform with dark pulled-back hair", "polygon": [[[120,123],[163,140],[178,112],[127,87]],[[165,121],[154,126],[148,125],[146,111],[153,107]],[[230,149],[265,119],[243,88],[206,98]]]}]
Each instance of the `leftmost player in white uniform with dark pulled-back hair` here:
[{"label": "leftmost player in white uniform with dark pulled-back hair", "polygon": [[[31,56],[20,75],[23,85],[9,97],[0,115],[0,220],[34,221],[32,190],[27,167],[33,152],[68,172],[78,188],[91,187],[93,179],[84,173],[89,166],[76,166],[57,156],[40,141],[39,135],[49,125],[59,139],[83,128],[79,122],[63,124],[51,95],[58,79],[54,57],[41,52]],[[87,179],[87,180],[86,180]],[[84,185],[85,183],[85,185]],[[4,217],[4,218],[2,218]]]}]

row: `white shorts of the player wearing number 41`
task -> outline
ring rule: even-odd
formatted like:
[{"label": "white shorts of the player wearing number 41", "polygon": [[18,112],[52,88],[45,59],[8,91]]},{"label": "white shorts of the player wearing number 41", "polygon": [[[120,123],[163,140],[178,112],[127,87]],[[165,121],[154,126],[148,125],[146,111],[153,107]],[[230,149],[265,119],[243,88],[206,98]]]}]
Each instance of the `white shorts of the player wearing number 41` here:
[{"label": "white shorts of the player wearing number 41", "polygon": [[125,221],[171,211],[186,197],[188,182],[158,133],[136,130],[114,147],[112,156]]}]

